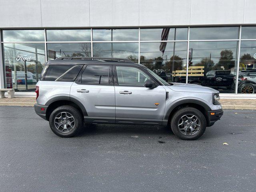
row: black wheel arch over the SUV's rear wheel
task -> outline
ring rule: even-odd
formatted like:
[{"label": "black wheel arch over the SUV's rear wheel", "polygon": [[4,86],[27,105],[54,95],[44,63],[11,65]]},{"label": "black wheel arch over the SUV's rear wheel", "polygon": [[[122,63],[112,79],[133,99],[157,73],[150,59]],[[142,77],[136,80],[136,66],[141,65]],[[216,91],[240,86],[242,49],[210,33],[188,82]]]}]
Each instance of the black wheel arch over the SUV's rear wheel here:
[{"label": "black wheel arch over the SUV's rear wheel", "polygon": [[45,105],[48,106],[46,109],[46,120],[49,120],[50,114],[54,109],[62,105],[73,106],[77,108],[83,116],[88,116],[87,111],[84,108],[84,105],[77,99],[69,96],[56,96],[48,100]]}]

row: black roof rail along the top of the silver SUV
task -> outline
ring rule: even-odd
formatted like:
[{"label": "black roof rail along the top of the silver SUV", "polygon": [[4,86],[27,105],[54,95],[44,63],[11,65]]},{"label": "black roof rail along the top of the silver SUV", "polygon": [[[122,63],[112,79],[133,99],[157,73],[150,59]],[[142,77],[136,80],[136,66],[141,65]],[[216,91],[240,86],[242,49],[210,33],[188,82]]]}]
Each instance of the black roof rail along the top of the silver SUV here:
[{"label": "black roof rail along the top of the silver SUV", "polygon": [[129,59],[123,59],[123,58],[102,58],[102,57],[59,57],[56,58],[56,60],[98,60],[98,61],[106,61],[106,62],[122,62],[122,63],[133,63]]}]

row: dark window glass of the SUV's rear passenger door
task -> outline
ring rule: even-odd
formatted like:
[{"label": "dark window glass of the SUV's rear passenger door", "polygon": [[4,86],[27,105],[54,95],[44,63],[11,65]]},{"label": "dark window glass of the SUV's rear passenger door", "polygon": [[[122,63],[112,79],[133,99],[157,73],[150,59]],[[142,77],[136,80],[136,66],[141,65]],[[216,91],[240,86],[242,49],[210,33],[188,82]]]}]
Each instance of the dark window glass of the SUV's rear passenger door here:
[{"label": "dark window glass of the SUV's rear passenger door", "polygon": [[110,66],[88,65],[82,73],[81,83],[90,85],[109,85],[110,77]]}]

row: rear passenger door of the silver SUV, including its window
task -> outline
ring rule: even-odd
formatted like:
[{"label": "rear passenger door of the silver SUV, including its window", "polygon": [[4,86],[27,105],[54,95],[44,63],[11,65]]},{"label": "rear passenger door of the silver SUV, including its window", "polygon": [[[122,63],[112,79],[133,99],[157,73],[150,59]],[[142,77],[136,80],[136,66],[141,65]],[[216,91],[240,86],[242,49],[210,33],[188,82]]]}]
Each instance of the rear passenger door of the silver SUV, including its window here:
[{"label": "rear passenger door of the silver SUV, including its window", "polygon": [[[85,69],[84,69],[85,68]],[[115,91],[112,66],[84,66],[72,84],[70,97],[79,100],[85,107],[88,123],[115,122]]]}]

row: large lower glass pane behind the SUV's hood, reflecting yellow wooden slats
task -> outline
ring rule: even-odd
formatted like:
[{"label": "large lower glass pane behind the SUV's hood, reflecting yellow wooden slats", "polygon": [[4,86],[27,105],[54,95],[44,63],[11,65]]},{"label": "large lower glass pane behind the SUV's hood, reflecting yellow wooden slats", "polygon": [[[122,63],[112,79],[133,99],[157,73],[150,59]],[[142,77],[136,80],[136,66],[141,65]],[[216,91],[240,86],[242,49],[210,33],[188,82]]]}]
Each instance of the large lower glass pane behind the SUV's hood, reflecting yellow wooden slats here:
[{"label": "large lower glass pane behind the SUV's hood, reflecting yellow wooden slats", "polygon": [[235,93],[237,41],[190,42],[188,83]]}]

